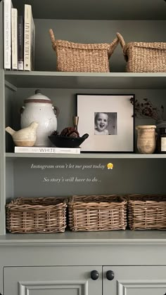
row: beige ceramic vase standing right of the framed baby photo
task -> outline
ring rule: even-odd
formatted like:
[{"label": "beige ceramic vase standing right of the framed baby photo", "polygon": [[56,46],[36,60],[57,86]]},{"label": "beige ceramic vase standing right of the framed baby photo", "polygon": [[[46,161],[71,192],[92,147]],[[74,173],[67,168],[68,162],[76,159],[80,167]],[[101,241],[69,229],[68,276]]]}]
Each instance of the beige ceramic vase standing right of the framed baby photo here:
[{"label": "beige ceramic vase standing right of the framed baby photo", "polygon": [[137,148],[141,154],[153,154],[156,146],[155,125],[136,126]]}]

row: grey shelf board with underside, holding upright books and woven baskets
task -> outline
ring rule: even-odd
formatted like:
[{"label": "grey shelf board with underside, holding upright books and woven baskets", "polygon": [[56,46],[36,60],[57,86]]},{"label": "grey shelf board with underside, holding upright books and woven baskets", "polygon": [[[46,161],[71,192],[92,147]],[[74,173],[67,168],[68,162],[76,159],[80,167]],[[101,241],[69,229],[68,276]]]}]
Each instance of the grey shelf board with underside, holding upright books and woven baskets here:
[{"label": "grey shelf board with underside, holding upright books and woven baskets", "polygon": [[[166,6],[166,4],[165,4]],[[8,83],[20,88],[166,89],[166,73],[79,73],[5,71]]]}]

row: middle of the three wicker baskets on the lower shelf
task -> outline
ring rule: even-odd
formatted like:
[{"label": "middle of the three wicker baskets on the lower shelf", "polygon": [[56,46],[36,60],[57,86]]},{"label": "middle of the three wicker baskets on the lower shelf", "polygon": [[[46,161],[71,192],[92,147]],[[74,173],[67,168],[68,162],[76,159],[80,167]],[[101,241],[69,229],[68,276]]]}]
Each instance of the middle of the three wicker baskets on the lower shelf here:
[{"label": "middle of the three wicker baskets on the lower shelf", "polygon": [[118,195],[70,197],[68,212],[74,231],[125,230],[127,226],[127,200]]}]

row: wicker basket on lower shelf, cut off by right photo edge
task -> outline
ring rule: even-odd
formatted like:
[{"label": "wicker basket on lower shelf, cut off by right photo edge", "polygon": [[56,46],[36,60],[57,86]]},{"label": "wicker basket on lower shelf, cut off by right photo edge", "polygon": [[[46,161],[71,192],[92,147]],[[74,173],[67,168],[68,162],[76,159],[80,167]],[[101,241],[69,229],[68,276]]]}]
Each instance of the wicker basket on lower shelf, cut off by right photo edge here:
[{"label": "wicker basket on lower shelf, cut off by right photo edge", "polygon": [[166,229],[166,195],[129,195],[131,230]]}]

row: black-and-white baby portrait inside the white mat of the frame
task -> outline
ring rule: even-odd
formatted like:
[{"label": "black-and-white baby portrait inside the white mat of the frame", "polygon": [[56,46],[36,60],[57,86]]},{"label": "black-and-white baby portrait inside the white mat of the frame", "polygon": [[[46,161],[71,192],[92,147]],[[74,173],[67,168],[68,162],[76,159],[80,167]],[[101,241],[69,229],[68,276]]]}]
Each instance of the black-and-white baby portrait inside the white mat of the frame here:
[{"label": "black-and-white baby portrait inside the white mat of the frame", "polygon": [[95,112],[94,135],[117,135],[117,112]]}]

